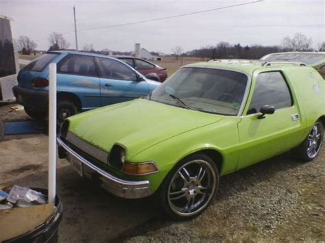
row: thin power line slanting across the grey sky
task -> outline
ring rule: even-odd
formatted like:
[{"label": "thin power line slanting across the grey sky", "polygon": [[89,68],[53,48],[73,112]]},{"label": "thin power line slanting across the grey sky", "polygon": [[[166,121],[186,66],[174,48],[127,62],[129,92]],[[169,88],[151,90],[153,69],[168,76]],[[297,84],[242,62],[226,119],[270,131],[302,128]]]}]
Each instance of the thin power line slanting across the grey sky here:
[{"label": "thin power line slanting across the grey sky", "polygon": [[189,16],[189,15],[194,15],[194,14],[202,14],[204,12],[213,12],[213,11],[217,11],[217,10],[224,10],[226,8],[234,8],[234,7],[239,7],[242,5],[249,5],[249,4],[253,4],[253,3],[260,3],[261,1],[265,1],[265,0],[258,0],[258,1],[251,1],[248,3],[239,3],[236,5],[228,5],[226,7],[221,7],[221,8],[212,8],[209,10],[202,10],[202,11],[197,11],[197,12],[189,12],[186,14],[178,14],[178,15],[172,15],[172,16],[166,16],[166,17],[161,17],[161,18],[152,18],[152,19],[148,19],[145,21],[136,21],[136,22],[129,22],[129,23],[121,23],[121,24],[117,24],[117,25],[106,25],[106,26],[102,26],[102,27],[92,27],[92,28],[85,28],[85,29],[80,29],[80,31],[84,31],[84,30],[93,30],[93,29],[106,29],[106,28],[112,28],[112,27],[121,27],[121,26],[125,26],[125,25],[137,25],[140,23],[148,23],[148,22],[153,22],[153,21],[162,21],[165,19],[170,19],[170,18],[179,18],[182,16]]}]

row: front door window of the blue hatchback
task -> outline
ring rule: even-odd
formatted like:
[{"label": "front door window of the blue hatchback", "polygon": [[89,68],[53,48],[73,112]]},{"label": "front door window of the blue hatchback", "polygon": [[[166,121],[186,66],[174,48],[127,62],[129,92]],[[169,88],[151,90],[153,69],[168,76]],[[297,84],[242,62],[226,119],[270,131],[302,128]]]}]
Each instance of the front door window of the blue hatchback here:
[{"label": "front door window of the blue hatchback", "polygon": [[125,64],[112,59],[98,58],[101,77],[106,79],[136,81],[136,73]]}]

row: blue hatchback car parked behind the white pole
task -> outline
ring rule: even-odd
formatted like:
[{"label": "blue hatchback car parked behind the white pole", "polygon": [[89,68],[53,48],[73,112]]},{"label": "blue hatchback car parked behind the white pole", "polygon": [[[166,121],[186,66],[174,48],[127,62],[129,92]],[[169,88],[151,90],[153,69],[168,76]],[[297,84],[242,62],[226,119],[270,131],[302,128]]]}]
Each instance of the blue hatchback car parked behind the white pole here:
[{"label": "blue hatchback car parked behind the white pole", "polygon": [[50,62],[57,64],[59,122],[78,112],[144,97],[160,85],[106,55],[50,51],[25,66],[14,87],[17,101],[32,118],[48,113]]}]

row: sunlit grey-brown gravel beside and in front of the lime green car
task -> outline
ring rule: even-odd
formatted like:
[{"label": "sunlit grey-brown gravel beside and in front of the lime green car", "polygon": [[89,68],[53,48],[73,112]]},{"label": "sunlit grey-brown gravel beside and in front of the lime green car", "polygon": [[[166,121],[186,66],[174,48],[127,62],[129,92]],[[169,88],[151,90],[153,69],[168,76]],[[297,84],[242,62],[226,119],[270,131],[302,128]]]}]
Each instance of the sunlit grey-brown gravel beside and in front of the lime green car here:
[{"label": "sunlit grey-brown gravel beside and in front of the lime green car", "polygon": [[158,215],[126,242],[324,242],[325,148],[314,162],[280,155],[221,177],[217,199],[198,218]]}]

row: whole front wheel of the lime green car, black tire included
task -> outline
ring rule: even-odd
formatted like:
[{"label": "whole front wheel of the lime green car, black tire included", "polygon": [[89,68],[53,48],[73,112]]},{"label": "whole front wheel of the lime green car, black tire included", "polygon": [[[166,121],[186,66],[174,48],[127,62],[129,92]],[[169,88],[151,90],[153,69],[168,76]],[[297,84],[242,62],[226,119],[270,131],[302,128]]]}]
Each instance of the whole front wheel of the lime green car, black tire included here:
[{"label": "whole front wheel of the lime green car, black tire included", "polygon": [[215,162],[197,153],[182,159],[169,172],[158,190],[157,199],[171,218],[187,220],[200,215],[210,205],[218,186],[219,172]]}]

